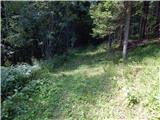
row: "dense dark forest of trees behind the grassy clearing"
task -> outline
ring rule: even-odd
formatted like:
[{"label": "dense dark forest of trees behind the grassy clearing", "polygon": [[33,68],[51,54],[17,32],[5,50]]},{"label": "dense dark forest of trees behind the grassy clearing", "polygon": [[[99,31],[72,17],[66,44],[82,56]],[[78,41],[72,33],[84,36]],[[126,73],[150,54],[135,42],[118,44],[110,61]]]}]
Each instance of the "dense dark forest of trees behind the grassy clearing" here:
[{"label": "dense dark forest of trees behind the grassy clearing", "polygon": [[1,7],[2,65],[32,63],[32,57],[49,58],[102,41],[122,47],[128,34],[142,41],[160,33],[159,1],[6,1]]}]

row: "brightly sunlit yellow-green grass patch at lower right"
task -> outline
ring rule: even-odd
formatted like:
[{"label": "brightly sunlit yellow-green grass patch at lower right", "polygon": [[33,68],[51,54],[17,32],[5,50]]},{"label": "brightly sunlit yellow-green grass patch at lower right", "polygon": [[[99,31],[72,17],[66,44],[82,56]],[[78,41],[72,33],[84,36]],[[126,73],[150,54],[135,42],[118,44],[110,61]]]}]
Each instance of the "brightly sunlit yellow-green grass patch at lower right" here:
[{"label": "brightly sunlit yellow-green grass patch at lower right", "polygon": [[[153,112],[151,114],[146,110],[144,105],[149,102],[146,97],[154,95],[152,93],[153,88],[160,89],[160,81],[158,80],[160,78],[160,71],[158,72],[157,70],[158,68],[156,67],[153,69],[152,67],[141,66],[140,69],[140,66],[126,66],[122,71],[119,71],[119,75],[117,76],[119,77],[117,81],[119,88],[115,88],[114,94],[109,100],[107,100],[106,96],[101,96],[100,101],[102,101],[99,107],[93,107],[88,114],[93,115],[95,119],[112,118],[128,120],[155,117],[158,113]],[[153,75],[153,73],[155,73],[154,76],[149,75]],[[157,95],[159,89],[156,90]],[[131,103],[132,97],[135,97],[134,99],[137,99],[138,103]]]}]

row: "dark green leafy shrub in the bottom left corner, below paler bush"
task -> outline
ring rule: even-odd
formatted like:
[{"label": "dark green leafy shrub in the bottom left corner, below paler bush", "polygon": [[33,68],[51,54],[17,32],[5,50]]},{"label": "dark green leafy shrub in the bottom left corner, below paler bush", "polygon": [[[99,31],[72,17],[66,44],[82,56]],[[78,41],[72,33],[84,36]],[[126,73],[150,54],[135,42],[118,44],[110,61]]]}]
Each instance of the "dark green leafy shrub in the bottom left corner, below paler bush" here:
[{"label": "dark green leafy shrub in the bottom left corner, below paler bush", "polygon": [[15,91],[14,95],[8,96],[2,102],[2,120],[13,120],[15,116],[24,114],[27,109],[26,103],[33,101],[30,96],[39,91],[41,84],[39,79],[32,80],[21,91]]}]

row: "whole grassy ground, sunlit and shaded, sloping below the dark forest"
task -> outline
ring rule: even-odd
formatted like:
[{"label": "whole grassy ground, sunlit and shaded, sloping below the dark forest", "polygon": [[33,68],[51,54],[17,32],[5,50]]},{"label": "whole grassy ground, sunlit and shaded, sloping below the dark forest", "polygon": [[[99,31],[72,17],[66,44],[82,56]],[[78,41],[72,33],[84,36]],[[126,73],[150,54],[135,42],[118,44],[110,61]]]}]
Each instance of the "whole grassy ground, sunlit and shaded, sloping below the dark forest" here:
[{"label": "whole grassy ground, sunlit and shaded, sloping below the dark forest", "polygon": [[129,49],[125,64],[104,44],[36,64],[41,69],[10,100],[15,120],[160,119],[159,43]]}]

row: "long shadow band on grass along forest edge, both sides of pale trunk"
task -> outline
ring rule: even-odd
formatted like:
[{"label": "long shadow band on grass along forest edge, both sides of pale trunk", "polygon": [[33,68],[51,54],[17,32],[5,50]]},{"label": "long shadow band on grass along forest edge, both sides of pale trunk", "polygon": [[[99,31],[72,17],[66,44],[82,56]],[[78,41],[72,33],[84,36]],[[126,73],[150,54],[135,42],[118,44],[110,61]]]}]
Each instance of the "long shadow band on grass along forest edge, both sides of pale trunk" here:
[{"label": "long shadow band on grass along forest edge, both sides of pale trunk", "polygon": [[[92,48],[92,50],[94,49]],[[122,63],[121,55],[121,51],[115,50],[112,52],[103,50],[95,54],[83,54],[82,51],[73,52],[72,54],[66,55],[67,58],[65,57],[65,60],[59,59],[57,62],[52,63],[50,65],[50,71],[54,73],[65,72],[76,70],[81,66],[95,67],[110,62],[119,64]],[[160,44],[149,44],[129,49],[128,61],[126,63],[142,62],[146,57],[160,57]]]}]

